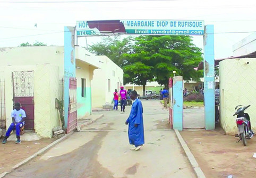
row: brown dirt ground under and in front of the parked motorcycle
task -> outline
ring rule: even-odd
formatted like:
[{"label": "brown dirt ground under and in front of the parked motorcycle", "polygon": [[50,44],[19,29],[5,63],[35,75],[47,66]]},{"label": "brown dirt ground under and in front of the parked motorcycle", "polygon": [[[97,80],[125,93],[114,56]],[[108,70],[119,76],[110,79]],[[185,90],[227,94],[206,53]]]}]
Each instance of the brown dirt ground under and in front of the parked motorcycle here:
[{"label": "brown dirt ground under and in front of the parked motorcycle", "polygon": [[183,131],[181,135],[207,178],[255,177],[256,137],[245,147],[219,127],[214,131]]}]

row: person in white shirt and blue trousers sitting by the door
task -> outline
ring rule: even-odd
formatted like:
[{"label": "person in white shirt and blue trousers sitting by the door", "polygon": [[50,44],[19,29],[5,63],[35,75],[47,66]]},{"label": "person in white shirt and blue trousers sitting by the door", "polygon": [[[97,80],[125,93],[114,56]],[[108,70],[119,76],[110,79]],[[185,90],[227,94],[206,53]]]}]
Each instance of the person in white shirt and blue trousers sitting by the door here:
[{"label": "person in white shirt and blue trousers sitting by the door", "polygon": [[26,114],[25,114],[25,111],[20,108],[19,102],[15,103],[15,109],[12,111],[11,117],[12,117],[12,124],[10,125],[10,127],[8,128],[5,134],[4,140],[2,142],[3,144],[7,142],[7,138],[10,136],[14,127],[16,127],[16,138],[17,138],[16,143],[17,144],[21,143],[20,128],[25,124]]}]

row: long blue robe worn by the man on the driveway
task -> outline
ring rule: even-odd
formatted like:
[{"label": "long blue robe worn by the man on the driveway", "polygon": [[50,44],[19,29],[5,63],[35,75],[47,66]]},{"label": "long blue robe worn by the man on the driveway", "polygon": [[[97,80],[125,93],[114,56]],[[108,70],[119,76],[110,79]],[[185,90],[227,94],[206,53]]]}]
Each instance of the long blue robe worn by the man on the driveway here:
[{"label": "long blue robe worn by the man on the driveway", "polygon": [[[136,99],[132,104],[130,116],[126,120],[126,122],[129,123],[129,142],[131,145],[135,145],[135,147],[144,144],[144,127],[142,114],[143,108],[141,101]],[[135,127],[134,124],[138,124],[138,127]]]}]

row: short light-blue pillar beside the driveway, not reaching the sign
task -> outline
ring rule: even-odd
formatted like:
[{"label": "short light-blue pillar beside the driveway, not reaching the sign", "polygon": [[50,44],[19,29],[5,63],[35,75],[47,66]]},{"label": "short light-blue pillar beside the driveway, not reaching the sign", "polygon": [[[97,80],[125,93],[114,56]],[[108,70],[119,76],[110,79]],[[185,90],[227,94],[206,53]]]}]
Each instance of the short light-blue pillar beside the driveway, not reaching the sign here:
[{"label": "short light-blue pillar beside the driveway, not reaching the sign", "polygon": [[173,78],[173,128],[183,130],[183,78]]}]

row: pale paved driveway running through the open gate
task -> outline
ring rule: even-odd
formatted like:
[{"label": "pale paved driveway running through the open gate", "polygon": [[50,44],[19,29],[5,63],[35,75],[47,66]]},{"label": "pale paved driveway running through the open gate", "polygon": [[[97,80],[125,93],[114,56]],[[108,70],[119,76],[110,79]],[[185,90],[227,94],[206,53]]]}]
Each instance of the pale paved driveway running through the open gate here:
[{"label": "pale paved driveway running through the open gate", "polygon": [[146,144],[130,151],[129,115],[104,112],[105,117],[84,127],[6,177],[180,178],[195,177],[173,130],[168,111],[159,101],[143,101]]}]

